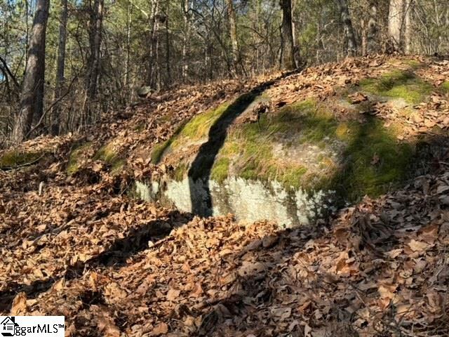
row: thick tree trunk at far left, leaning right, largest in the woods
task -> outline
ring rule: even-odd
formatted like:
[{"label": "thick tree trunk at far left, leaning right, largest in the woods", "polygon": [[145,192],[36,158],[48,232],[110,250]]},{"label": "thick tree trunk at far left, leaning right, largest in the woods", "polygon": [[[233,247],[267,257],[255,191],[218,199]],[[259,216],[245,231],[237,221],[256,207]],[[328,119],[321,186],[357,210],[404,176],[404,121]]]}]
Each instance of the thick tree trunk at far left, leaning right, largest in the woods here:
[{"label": "thick tree trunk at far left, leaning right, largest in the woods", "polygon": [[27,67],[22,84],[20,110],[13,128],[13,140],[17,143],[29,136],[34,114],[42,115],[45,40],[49,6],[50,0],[37,0],[32,34],[29,40]]}]

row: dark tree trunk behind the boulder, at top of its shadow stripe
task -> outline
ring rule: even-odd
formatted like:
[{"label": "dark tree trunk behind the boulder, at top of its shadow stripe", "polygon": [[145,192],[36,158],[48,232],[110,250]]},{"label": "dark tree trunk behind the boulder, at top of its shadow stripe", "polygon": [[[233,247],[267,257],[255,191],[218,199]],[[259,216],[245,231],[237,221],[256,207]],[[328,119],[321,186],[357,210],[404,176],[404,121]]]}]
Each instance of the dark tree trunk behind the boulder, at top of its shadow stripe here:
[{"label": "dark tree trunk behind the boulder, at top of its shadow stripe", "polygon": [[295,48],[293,44],[292,1],[280,0],[279,5],[282,9],[281,68],[285,70],[293,70],[296,68],[296,62]]}]

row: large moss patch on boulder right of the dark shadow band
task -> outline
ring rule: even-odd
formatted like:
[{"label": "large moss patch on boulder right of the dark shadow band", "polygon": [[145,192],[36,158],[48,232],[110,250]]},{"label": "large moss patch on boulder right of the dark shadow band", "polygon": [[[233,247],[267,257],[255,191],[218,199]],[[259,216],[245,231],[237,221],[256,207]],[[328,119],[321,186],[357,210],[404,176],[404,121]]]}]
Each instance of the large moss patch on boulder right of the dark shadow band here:
[{"label": "large moss patch on boulder right of the dark shadow band", "polygon": [[[340,142],[343,157],[339,164],[321,154],[316,159],[318,171],[311,170],[306,164],[276,158],[272,145],[279,138],[292,139],[288,147],[317,145],[323,151]],[[286,188],[333,189],[341,199],[356,201],[365,194],[376,197],[391,184],[401,183],[407,178],[412,157],[411,145],[397,143],[396,129],[384,128],[375,117],[366,117],[363,123],[337,121],[325,107],[308,100],[271,117],[262,116],[259,124],[236,128],[229,134],[213,171],[214,177],[224,179],[232,165],[233,173],[241,178],[276,179]]]}]

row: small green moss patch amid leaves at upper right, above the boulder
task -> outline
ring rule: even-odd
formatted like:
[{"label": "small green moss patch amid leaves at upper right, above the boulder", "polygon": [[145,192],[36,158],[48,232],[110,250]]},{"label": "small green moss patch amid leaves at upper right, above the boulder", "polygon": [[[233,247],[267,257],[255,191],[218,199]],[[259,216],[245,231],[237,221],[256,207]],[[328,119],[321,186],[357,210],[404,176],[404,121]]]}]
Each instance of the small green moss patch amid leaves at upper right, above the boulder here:
[{"label": "small green moss patch amid leaves at upper right, above the boulder", "polygon": [[407,103],[421,103],[432,91],[432,86],[413,72],[394,70],[381,79],[362,79],[362,91],[389,98],[403,98]]}]

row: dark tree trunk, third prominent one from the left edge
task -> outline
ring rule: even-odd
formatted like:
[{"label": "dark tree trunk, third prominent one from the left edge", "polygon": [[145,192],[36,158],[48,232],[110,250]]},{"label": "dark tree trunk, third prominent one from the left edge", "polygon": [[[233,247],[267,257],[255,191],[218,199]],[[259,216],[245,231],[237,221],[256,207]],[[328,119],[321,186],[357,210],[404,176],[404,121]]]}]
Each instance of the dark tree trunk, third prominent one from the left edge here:
[{"label": "dark tree trunk, third prominent one from the left edge", "polygon": [[89,22],[89,45],[91,55],[88,60],[88,77],[86,83],[86,121],[93,120],[93,102],[98,94],[98,78],[100,76],[100,55],[103,27],[104,0],[94,0],[94,8],[91,8],[91,20]]}]

